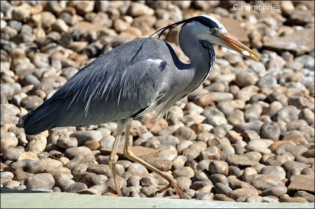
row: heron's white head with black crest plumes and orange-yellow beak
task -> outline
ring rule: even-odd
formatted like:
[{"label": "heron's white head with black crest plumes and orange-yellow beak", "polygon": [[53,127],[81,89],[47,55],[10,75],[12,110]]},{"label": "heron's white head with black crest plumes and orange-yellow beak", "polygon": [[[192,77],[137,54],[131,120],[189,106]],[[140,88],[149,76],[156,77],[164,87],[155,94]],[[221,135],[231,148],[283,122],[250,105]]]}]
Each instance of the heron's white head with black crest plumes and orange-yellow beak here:
[{"label": "heron's white head with black crest plumes and orange-yellow beak", "polygon": [[189,30],[189,35],[194,36],[194,38],[208,41],[209,43],[218,44],[220,46],[234,50],[244,55],[245,57],[251,60],[255,60],[257,62],[260,62],[259,60],[261,60],[261,57],[257,53],[255,53],[246,45],[238,41],[235,37],[230,35],[219,20],[209,15],[192,17],[187,20],[183,20],[166,26],[157,31],[161,31],[159,37],[161,33],[163,33],[165,30],[172,30],[180,24],[184,24],[181,31]]}]

